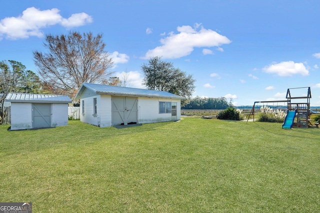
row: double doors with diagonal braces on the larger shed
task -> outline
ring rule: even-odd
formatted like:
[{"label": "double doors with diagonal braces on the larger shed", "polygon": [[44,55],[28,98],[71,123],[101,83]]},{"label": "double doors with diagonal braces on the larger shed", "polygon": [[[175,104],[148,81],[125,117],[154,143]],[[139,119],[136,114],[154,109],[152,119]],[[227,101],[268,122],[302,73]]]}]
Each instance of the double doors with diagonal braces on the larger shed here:
[{"label": "double doors with diagonal braces on the larger shed", "polygon": [[112,126],[137,123],[137,98],[112,96]]}]

